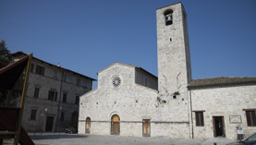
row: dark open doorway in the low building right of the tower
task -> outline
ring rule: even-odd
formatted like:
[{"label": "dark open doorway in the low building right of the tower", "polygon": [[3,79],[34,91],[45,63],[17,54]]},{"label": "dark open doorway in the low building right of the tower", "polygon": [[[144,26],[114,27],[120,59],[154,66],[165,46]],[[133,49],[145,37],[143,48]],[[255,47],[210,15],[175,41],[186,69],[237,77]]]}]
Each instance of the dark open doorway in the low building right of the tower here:
[{"label": "dark open doorway in the low building right of the tower", "polygon": [[213,116],[213,136],[226,138],[223,116]]}]

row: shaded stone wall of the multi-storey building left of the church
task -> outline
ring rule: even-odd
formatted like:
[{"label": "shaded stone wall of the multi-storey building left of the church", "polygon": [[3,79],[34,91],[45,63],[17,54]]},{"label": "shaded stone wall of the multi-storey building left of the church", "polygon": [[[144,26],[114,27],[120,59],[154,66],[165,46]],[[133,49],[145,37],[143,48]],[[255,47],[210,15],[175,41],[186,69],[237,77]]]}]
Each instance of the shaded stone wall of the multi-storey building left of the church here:
[{"label": "shaded stone wall of the multi-storey building left of the church", "polygon": [[[91,79],[75,75],[38,59],[32,59],[31,64],[33,64],[33,70],[30,71],[22,126],[29,132],[42,132],[45,131],[47,116],[53,116],[52,131],[64,131],[66,127],[70,126],[72,115],[79,114],[79,104],[76,104],[76,96],[91,91]],[[36,73],[37,65],[44,67],[43,75]],[[56,77],[55,72],[57,72]],[[62,74],[68,74],[70,81],[62,81]],[[77,79],[80,79],[80,83],[83,80],[88,81],[86,84],[88,86],[86,88],[82,87],[82,84],[78,86]],[[35,87],[40,89],[38,98],[34,97]],[[48,100],[49,91],[57,92],[56,100]],[[63,92],[67,93],[66,103],[63,103]],[[35,120],[30,119],[31,110],[36,110]],[[65,113],[64,120],[60,121],[59,118],[62,112]]]}]

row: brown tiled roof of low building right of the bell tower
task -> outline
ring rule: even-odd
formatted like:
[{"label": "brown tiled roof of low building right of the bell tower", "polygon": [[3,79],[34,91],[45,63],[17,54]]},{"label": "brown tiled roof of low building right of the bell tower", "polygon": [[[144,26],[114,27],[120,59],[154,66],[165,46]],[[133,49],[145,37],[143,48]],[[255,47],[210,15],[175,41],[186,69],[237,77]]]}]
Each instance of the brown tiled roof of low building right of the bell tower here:
[{"label": "brown tiled roof of low building right of the bell tower", "polygon": [[201,87],[213,87],[224,85],[236,85],[236,84],[248,84],[255,83],[255,77],[219,77],[210,79],[194,79],[192,80],[188,88],[201,88]]}]

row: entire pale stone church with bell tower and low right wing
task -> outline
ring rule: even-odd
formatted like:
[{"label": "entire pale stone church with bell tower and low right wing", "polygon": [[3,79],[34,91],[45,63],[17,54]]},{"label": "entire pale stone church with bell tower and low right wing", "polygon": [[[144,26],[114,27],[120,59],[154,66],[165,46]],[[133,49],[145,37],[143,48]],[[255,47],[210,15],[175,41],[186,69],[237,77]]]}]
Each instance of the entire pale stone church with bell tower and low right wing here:
[{"label": "entire pale stone church with bell tower and low right wing", "polygon": [[237,139],[256,131],[256,78],[191,79],[182,3],[156,10],[158,77],[115,63],[98,88],[80,96],[79,133],[135,137]]}]

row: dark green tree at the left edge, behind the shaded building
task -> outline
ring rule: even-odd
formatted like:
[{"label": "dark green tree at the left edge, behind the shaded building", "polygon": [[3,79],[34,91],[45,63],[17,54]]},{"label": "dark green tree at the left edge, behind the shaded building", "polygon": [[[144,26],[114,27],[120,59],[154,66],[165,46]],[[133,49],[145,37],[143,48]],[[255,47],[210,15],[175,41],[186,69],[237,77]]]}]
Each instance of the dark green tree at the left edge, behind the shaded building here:
[{"label": "dark green tree at the left edge, behind the shaded building", "polygon": [[6,42],[2,40],[0,42],[0,68],[9,65],[12,61],[12,56],[6,47]]}]

